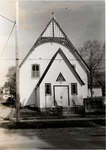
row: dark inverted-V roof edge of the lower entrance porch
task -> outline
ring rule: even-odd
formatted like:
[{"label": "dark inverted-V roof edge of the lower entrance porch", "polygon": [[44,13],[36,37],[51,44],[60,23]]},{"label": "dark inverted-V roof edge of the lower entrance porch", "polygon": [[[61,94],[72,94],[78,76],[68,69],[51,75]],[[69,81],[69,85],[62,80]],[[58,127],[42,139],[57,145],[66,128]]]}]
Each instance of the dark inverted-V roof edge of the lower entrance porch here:
[{"label": "dark inverted-V roof edge of the lower entrance porch", "polygon": [[52,63],[54,62],[57,54],[60,54],[61,57],[63,58],[63,60],[65,61],[65,63],[67,64],[67,66],[69,67],[69,69],[72,71],[72,73],[75,75],[76,79],[78,80],[78,82],[81,84],[81,85],[84,85],[84,82],[82,81],[82,79],[80,78],[80,76],[78,75],[78,73],[76,72],[76,70],[73,68],[73,65],[70,63],[70,61],[67,59],[67,57],[65,56],[65,54],[63,53],[63,51],[61,49],[59,49],[55,54],[54,56],[52,57],[52,59],[50,60],[47,68],[45,69],[44,73],[42,74],[40,80],[38,81],[36,88],[39,87],[39,85],[41,84],[41,82],[43,81],[45,75],[47,74],[48,70],[50,69],[50,66],[52,65]]}]

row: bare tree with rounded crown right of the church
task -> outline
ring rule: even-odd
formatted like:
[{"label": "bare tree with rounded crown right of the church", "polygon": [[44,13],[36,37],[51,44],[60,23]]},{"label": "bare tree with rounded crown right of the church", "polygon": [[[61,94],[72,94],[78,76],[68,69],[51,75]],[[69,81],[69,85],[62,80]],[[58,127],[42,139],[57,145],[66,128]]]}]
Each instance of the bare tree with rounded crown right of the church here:
[{"label": "bare tree with rounded crown right of the church", "polygon": [[79,48],[79,52],[85,62],[87,63],[90,74],[89,74],[89,88],[91,97],[93,96],[93,81],[95,75],[100,72],[100,66],[104,55],[105,45],[101,45],[97,40],[86,41],[83,47]]}]

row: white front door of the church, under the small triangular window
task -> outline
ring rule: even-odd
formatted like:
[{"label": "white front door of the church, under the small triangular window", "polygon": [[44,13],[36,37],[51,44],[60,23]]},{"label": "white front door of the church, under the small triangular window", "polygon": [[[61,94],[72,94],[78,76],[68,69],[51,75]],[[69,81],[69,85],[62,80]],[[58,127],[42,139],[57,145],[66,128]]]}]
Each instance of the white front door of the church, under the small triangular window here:
[{"label": "white front door of the church, under the small triangular window", "polygon": [[69,87],[67,85],[54,86],[55,105],[67,107],[69,105]]}]

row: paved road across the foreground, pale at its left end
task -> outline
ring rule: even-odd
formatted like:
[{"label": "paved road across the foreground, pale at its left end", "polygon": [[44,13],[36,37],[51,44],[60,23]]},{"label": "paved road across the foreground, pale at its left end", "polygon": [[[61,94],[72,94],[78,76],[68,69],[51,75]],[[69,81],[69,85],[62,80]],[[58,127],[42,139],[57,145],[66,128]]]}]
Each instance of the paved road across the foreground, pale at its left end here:
[{"label": "paved road across the foreground, pale at its left end", "polygon": [[0,150],[104,149],[104,127],[4,129]]}]

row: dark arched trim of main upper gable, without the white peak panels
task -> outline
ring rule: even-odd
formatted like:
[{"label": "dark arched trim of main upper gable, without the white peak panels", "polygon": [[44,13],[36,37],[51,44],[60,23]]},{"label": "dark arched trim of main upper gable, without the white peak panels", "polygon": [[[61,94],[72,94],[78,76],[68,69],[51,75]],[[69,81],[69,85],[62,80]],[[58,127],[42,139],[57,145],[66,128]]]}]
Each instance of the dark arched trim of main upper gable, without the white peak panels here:
[{"label": "dark arched trim of main upper gable, without the white peak panels", "polygon": [[[52,22],[52,26],[54,28],[54,23],[59,27],[60,31],[62,32],[62,34],[64,35],[64,37],[54,37],[54,33],[53,33],[53,37],[42,37],[42,35],[44,34],[44,32],[46,31],[46,29],[48,28],[49,24]],[[54,31],[53,31],[54,32]],[[70,40],[68,39],[67,35],[64,33],[64,31],[62,30],[62,28],[60,27],[60,25],[58,24],[58,22],[54,19],[54,17],[49,21],[49,23],[47,24],[46,28],[43,30],[43,32],[40,34],[39,38],[37,39],[37,41],[34,43],[34,45],[32,46],[32,48],[30,49],[30,51],[28,52],[28,54],[24,57],[23,61],[20,63],[19,68],[21,68],[21,66],[24,64],[24,62],[26,61],[26,59],[28,58],[28,56],[32,53],[32,51],[39,45],[47,43],[47,42],[55,42],[55,43],[59,43],[63,46],[65,46],[66,48],[69,49],[69,51],[76,57],[76,59],[78,60],[78,62],[81,64],[81,66],[83,67],[83,69],[89,73],[89,67],[86,64],[86,62],[83,60],[83,58],[80,56],[80,54],[78,53],[78,51],[75,49],[75,47],[73,46],[73,44],[70,42]]]}]

